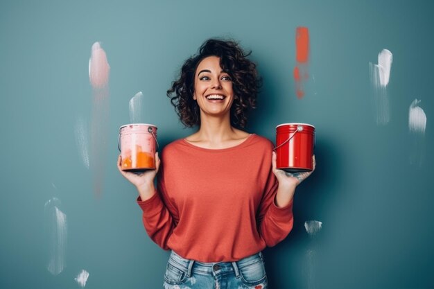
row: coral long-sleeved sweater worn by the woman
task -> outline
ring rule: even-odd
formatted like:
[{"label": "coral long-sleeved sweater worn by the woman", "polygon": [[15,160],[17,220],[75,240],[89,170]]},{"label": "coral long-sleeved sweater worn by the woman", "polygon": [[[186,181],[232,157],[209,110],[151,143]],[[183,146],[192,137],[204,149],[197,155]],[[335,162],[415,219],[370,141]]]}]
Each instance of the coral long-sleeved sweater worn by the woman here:
[{"label": "coral long-sleeved sweater worn by the woman", "polygon": [[217,150],[168,144],[157,192],[137,199],[150,238],[202,262],[238,261],[279,243],[293,227],[293,202],[275,205],[272,147],[257,134]]}]

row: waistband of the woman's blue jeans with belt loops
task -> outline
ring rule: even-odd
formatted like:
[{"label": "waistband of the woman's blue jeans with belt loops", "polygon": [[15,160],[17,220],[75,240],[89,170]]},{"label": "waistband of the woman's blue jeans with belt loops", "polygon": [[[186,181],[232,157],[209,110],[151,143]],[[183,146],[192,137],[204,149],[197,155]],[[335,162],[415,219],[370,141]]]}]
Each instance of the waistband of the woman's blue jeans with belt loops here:
[{"label": "waistband of the woman's blue jeans with belt loops", "polygon": [[181,267],[180,269],[186,271],[188,277],[191,277],[191,272],[198,272],[202,274],[220,274],[225,272],[234,272],[235,276],[238,278],[239,268],[243,268],[247,265],[257,263],[259,261],[263,261],[262,252],[233,262],[205,263],[184,259],[182,256],[172,251],[168,262],[175,267]]}]

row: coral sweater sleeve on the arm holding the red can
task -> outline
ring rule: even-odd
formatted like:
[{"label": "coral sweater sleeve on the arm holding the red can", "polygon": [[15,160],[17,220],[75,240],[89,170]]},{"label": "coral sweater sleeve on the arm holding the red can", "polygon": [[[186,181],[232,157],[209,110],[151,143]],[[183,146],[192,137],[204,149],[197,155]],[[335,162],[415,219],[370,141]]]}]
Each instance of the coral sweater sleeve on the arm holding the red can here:
[{"label": "coral sweater sleeve on the arm holding the red can", "polygon": [[[269,161],[269,164],[271,164],[271,159]],[[288,236],[290,230],[293,229],[294,218],[293,200],[286,207],[279,208],[276,206],[275,197],[279,182],[277,182],[271,168],[268,171],[265,192],[257,215],[257,224],[259,234],[266,242],[266,245],[272,247]]]}]

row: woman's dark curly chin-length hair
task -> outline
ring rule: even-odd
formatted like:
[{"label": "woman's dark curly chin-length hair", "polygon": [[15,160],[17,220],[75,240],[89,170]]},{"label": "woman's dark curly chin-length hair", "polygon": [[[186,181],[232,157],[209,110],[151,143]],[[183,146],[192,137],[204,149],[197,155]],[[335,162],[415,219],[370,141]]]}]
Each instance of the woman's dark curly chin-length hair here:
[{"label": "woman's dark curly chin-length hair", "polygon": [[244,128],[247,112],[256,108],[257,94],[262,85],[256,64],[248,60],[252,51],[244,51],[234,41],[209,39],[200,46],[197,55],[187,59],[182,65],[180,78],[172,83],[167,96],[175,107],[175,112],[186,127],[200,124],[200,109],[193,99],[194,75],[199,63],[208,56],[220,58],[220,67],[232,78],[234,102],[231,107],[232,125]]}]

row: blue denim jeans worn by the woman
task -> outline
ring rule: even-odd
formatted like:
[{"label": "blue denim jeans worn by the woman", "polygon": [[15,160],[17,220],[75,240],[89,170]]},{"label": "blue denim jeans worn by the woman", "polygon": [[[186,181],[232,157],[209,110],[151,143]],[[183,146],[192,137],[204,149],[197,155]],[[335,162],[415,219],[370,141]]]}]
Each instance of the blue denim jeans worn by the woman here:
[{"label": "blue denim jeans worn by the woman", "polygon": [[202,263],[175,252],[167,262],[164,289],[267,289],[262,253],[236,262]]}]

